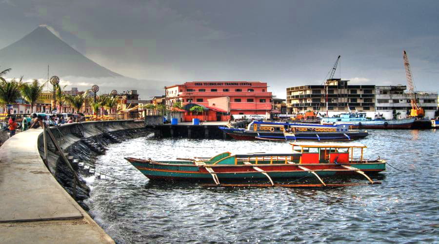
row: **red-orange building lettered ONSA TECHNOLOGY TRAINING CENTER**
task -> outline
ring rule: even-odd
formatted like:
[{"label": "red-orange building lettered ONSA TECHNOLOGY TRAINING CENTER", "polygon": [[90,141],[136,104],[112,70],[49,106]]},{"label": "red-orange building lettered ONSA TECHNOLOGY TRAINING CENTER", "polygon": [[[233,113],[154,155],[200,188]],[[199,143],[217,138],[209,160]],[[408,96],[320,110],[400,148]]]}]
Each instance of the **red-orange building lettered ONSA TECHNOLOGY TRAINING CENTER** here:
[{"label": "red-orange building lettered ONSA TECHNOLOGY TRAINING CENTER", "polygon": [[[165,87],[166,105],[180,101],[201,105],[217,113],[236,115],[266,115],[272,111],[272,93],[267,83],[260,81],[191,81]],[[190,106],[189,105],[189,106]],[[218,120],[220,119],[218,117]]]}]

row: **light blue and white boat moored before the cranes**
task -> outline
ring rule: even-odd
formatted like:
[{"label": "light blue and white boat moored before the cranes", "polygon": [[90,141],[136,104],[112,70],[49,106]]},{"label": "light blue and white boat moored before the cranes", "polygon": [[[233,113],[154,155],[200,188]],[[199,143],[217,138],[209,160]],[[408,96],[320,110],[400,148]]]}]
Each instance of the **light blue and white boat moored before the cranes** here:
[{"label": "light blue and white boat moored before the cranes", "polygon": [[385,120],[372,120],[366,117],[366,113],[342,113],[338,117],[324,117],[321,124],[348,124],[352,128],[370,128],[370,129],[407,129],[415,122],[415,118]]}]

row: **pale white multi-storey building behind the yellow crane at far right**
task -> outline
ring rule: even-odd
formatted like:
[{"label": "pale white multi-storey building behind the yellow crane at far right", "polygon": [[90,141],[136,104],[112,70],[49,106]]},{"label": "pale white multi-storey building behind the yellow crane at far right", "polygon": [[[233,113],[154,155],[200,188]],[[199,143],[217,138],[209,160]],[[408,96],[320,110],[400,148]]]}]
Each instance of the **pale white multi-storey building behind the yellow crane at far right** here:
[{"label": "pale white multi-storey building behind the yellow crane at far right", "polygon": [[[405,93],[405,85],[376,86],[375,87],[375,106],[376,112],[382,114],[386,119],[406,118],[410,115],[410,96]],[[434,118],[438,109],[437,92],[415,92],[419,106],[425,111],[425,118]]]}]

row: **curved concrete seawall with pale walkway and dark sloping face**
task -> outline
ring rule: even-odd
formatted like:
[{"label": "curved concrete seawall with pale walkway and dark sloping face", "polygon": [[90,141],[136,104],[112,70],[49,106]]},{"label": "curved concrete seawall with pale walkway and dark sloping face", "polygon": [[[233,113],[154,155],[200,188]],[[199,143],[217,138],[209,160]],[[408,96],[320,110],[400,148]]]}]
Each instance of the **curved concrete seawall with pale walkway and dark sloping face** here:
[{"label": "curved concrete seawall with pale walkway and dark sloping face", "polygon": [[[79,161],[94,165],[106,144],[149,133],[143,122],[134,121],[50,129],[76,171]],[[0,147],[0,243],[114,243],[84,210],[89,189],[83,181],[76,187],[76,201],[72,198],[73,172],[49,137],[47,165],[43,162],[42,134],[42,129],[30,129]]]}]

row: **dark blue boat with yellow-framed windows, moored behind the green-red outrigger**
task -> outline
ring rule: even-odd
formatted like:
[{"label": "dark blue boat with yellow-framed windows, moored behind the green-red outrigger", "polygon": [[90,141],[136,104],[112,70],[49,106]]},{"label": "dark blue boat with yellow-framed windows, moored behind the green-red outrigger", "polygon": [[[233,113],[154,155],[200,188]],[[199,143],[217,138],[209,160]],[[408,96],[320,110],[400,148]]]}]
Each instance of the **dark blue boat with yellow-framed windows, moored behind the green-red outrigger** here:
[{"label": "dark blue boat with yellow-framed windows, moored behind the green-red outrigger", "polygon": [[349,125],[252,121],[246,129],[219,126],[236,140],[271,141],[352,141],[364,138],[367,131],[353,131]]}]

